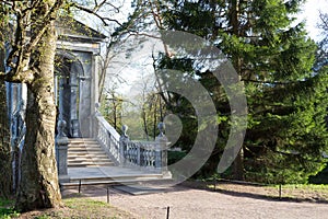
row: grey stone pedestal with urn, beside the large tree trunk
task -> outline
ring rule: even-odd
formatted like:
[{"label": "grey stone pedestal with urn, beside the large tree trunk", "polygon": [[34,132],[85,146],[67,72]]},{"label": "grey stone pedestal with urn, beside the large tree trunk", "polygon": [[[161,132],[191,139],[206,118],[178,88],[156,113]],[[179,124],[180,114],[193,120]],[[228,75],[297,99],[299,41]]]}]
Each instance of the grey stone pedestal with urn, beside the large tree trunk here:
[{"label": "grey stone pedestal with urn, beside the large tree trunk", "polygon": [[59,183],[69,182],[68,165],[67,165],[67,151],[68,151],[68,137],[63,132],[66,122],[58,122],[58,135],[56,136],[56,160],[58,169]]}]

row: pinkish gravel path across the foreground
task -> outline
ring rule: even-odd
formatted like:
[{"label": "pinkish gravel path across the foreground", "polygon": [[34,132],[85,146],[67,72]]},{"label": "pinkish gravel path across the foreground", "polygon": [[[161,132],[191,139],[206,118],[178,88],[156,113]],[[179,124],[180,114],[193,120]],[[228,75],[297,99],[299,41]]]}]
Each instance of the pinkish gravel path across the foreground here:
[{"label": "pinkish gravel path across the foreground", "polygon": [[[107,200],[104,188],[87,188],[83,194]],[[167,192],[130,195],[109,189],[110,204],[136,218],[165,219],[327,219],[328,204],[274,200],[261,196],[241,196],[222,192],[175,186]]]}]

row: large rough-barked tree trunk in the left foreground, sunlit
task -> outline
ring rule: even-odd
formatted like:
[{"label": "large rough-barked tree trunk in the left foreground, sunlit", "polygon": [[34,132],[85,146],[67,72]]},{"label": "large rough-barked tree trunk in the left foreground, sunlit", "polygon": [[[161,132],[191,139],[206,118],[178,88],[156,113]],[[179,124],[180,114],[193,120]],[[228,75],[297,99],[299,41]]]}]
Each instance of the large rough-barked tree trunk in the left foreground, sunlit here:
[{"label": "large rough-barked tree trunk in the left foreground, sunlit", "polygon": [[27,84],[26,137],[22,151],[21,183],[16,208],[27,211],[61,205],[58,185],[54,97],[54,58],[56,50],[54,22],[39,44],[37,70]]}]

